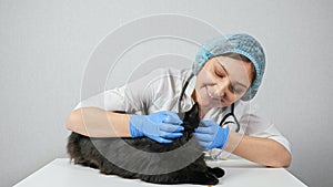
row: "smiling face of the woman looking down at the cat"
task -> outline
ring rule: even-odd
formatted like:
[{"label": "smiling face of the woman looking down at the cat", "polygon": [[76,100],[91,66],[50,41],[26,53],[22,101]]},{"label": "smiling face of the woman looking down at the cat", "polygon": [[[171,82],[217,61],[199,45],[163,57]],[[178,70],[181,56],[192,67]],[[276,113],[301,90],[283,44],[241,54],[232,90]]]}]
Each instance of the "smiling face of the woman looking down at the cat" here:
[{"label": "smiling face of the woman looking down at the cat", "polygon": [[206,110],[225,107],[240,100],[251,85],[254,67],[251,62],[228,56],[206,61],[195,83],[195,98]]}]

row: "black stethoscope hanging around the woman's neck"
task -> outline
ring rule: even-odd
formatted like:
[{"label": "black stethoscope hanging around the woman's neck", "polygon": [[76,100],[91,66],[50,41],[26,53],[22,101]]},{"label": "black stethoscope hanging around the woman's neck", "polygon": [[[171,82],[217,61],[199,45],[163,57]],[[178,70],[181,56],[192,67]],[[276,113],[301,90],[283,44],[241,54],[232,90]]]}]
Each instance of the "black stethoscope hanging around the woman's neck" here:
[{"label": "black stethoscope hanging around the woman's neck", "polygon": [[[189,85],[189,83],[190,83],[190,81],[192,80],[193,76],[194,76],[194,74],[192,73],[190,75],[190,77],[186,80],[184,86],[182,87],[181,95],[180,95],[179,101],[178,101],[178,108],[179,110],[181,108],[181,102],[182,102],[182,98],[184,96],[185,90],[188,89],[188,85]],[[230,118],[233,118],[233,121],[230,120]],[[220,126],[222,126],[222,127],[228,126],[228,124],[231,124],[231,123],[232,124],[234,123],[236,125],[235,132],[239,133],[240,128],[241,128],[241,125],[240,125],[238,118],[234,115],[234,103],[231,104],[230,113],[225,114],[224,117],[221,120]]]}]

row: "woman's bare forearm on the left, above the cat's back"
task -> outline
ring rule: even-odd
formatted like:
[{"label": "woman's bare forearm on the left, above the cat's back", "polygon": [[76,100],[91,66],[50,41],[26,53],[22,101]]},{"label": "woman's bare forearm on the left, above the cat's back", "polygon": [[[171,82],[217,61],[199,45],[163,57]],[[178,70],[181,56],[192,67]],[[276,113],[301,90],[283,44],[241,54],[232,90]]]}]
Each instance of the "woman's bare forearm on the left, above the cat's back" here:
[{"label": "woman's bare forearm on the left, above the cat's back", "polygon": [[68,116],[67,128],[90,137],[130,137],[129,120],[128,114],[82,107]]}]

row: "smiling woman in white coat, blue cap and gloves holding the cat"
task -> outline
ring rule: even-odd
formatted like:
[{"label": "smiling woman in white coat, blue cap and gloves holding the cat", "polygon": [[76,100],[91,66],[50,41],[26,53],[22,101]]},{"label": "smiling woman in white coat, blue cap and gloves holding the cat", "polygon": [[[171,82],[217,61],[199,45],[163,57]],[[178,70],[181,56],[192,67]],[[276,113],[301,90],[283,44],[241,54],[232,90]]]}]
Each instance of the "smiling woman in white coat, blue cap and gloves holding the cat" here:
[{"label": "smiling woman in white coat, blue cap and gloves holding the cat", "polygon": [[91,137],[147,136],[168,144],[182,136],[178,114],[198,102],[203,125],[194,135],[208,152],[223,148],[261,165],[287,167],[287,139],[250,107],[264,69],[263,49],[251,35],[216,38],[201,46],[191,70],[159,69],[82,101],[67,128]]}]

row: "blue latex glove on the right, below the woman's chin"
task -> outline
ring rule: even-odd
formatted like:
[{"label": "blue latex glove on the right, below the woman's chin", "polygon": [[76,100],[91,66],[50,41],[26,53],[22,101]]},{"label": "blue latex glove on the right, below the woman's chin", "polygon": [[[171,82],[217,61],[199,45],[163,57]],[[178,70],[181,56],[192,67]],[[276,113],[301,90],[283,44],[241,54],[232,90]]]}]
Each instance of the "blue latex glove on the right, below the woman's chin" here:
[{"label": "blue latex glove on the right, below the woman's chin", "polygon": [[201,122],[204,126],[195,128],[194,136],[206,150],[223,148],[229,138],[229,128],[222,128],[214,121]]}]

